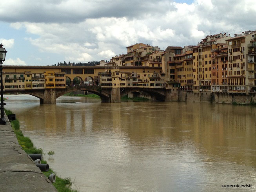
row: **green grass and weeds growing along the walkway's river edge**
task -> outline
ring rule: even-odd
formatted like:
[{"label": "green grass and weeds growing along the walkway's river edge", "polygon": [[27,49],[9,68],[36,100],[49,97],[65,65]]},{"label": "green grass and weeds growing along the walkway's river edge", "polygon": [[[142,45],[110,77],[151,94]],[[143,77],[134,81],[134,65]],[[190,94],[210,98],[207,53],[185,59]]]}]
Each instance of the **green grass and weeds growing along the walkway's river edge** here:
[{"label": "green grass and weeds growing along the walkway's river edge", "polygon": [[[13,112],[11,112],[11,110],[7,110],[7,109],[4,109],[4,110],[5,110],[6,115],[13,114]],[[29,153],[45,154],[43,152],[42,148],[39,148],[39,149],[35,148],[31,139],[29,139],[28,137],[25,137],[22,134],[22,131],[20,130],[19,120],[11,121],[11,125],[12,125],[13,130],[16,134],[17,139],[18,139],[18,143],[21,145],[22,149],[26,153],[28,153],[28,154]],[[54,151],[49,151],[48,152],[48,155],[53,155],[53,154],[54,154]],[[47,161],[42,160],[41,163],[47,163]],[[43,172],[43,173],[46,177],[48,177],[51,173],[55,174],[56,181],[55,181],[55,183],[53,183],[53,185],[59,192],[77,192],[78,191],[76,189],[74,190],[74,189],[71,188],[73,182],[71,181],[70,178],[62,179],[62,178],[58,177],[52,169],[49,169],[48,172]]]}]

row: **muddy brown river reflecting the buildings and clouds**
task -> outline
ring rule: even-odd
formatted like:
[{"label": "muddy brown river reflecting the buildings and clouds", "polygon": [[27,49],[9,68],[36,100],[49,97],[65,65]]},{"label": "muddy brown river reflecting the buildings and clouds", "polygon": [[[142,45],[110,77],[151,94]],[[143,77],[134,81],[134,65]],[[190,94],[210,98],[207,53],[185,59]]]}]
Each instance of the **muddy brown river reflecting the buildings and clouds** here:
[{"label": "muddy brown river reflecting the buildings and clouds", "polygon": [[256,190],[256,107],[6,97],[24,135],[81,192]]}]

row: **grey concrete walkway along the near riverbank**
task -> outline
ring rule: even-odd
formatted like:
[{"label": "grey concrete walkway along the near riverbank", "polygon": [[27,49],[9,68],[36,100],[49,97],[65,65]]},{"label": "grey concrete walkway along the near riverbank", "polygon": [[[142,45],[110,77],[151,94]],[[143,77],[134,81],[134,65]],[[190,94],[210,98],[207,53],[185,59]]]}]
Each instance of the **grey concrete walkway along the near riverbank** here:
[{"label": "grey concrete walkway along the near riverbank", "polygon": [[10,122],[7,122],[7,125],[0,125],[0,191],[57,191],[22,150]]}]

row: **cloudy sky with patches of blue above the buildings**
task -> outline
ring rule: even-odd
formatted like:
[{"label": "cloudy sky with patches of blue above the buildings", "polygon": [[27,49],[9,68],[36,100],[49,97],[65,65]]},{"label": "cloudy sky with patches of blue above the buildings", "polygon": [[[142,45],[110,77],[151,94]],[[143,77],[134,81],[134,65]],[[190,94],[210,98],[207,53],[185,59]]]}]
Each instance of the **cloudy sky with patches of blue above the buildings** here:
[{"label": "cloudy sky with patches of blue above the buildings", "polygon": [[138,42],[165,49],[255,30],[255,18],[255,0],[1,0],[0,42],[4,65],[99,61]]}]

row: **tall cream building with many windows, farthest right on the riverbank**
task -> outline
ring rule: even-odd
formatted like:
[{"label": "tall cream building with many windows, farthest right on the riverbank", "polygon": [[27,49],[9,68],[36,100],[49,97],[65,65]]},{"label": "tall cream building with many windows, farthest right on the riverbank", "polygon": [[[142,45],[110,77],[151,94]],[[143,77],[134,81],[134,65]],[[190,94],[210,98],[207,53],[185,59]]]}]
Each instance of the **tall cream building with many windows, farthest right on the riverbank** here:
[{"label": "tall cream building with many windows, farthest right on the riverbank", "polygon": [[255,31],[245,31],[235,34],[233,38],[227,40],[229,93],[249,94],[253,90],[256,80],[256,71],[254,70],[255,34]]}]

